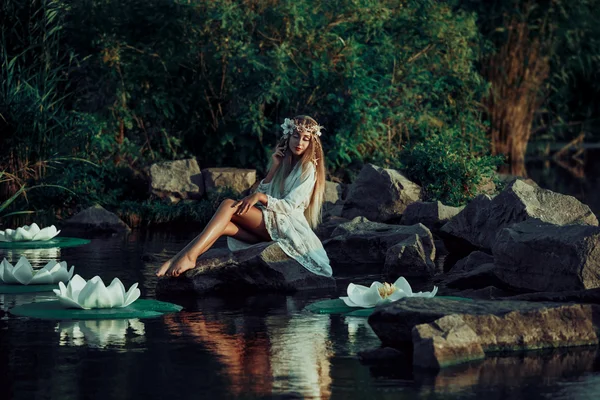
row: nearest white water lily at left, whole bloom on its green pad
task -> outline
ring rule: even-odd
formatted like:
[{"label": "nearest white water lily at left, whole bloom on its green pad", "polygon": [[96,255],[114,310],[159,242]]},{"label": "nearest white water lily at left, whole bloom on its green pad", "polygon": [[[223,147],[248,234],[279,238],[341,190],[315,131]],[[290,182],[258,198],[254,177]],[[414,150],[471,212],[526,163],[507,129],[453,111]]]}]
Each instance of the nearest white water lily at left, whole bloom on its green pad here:
[{"label": "nearest white water lily at left, whole bloom on its green pad", "polygon": [[140,297],[140,289],[137,286],[138,284],[134,283],[125,292],[125,287],[119,278],[113,279],[107,287],[99,276],[95,276],[86,282],[79,275],[75,275],[67,286],[60,282],[58,289],[54,289],[54,293],[56,293],[60,304],[66,308],[80,308],[83,310],[121,308],[127,307]]}]

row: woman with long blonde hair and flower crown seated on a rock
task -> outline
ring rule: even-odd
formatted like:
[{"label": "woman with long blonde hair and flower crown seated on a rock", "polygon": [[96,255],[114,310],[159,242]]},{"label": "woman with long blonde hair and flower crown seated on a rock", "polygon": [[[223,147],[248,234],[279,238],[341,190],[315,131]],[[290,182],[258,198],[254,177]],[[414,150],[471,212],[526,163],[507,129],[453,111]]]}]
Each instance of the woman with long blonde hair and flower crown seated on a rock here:
[{"label": "woman with long blonde hair and flower crown seated on a rock", "polygon": [[329,258],[313,229],[320,222],[325,191],[321,126],[308,116],[285,120],[271,168],[255,193],[224,200],[202,233],[165,262],[158,276],[179,276],[221,236],[233,251],[276,241],[309,271],[331,276]]}]

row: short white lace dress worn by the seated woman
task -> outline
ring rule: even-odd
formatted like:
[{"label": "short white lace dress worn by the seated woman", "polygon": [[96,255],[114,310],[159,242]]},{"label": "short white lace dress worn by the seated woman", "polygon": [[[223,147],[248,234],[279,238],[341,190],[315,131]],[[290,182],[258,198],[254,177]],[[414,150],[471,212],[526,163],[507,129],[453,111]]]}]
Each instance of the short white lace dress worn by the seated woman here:
[{"label": "short white lace dress worn by the seated woman", "polygon": [[[307,163],[302,168],[301,163],[297,163],[285,179],[283,193],[279,185],[261,181],[256,190],[266,194],[268,202],[266,206],[259,203],[257,207],[262,210],[269,235],[288,256],[314,274],[331,276],[329,257],[304,216],[315,182],[315,166]],[[231,251],[252,246],[232,237],[227,238],[227,245]]]}]

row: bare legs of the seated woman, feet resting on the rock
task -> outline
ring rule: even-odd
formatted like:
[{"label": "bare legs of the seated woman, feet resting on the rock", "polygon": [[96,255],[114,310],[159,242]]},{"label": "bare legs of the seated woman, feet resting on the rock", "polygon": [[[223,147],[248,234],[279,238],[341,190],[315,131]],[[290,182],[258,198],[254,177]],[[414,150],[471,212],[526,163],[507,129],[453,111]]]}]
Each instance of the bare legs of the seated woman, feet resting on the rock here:
[{"label": "bare legs of the seated woman, feet resting on the rock", "polygon": [[185,246],[173,259],[163,264],[157,275],[179,276],[188,269],[194,268],[196,259],[207,251],[219,237],[227,233],[232,234],[232,236],[235,234],[244,235],[241,232],[241,230],[244,230],[260,240],[271,240],[265,227],[262,211],[256,207],[251,207],[244,215],[234,215],[237,210],[235,204],[234,200],[224,200],[202,233]]}]

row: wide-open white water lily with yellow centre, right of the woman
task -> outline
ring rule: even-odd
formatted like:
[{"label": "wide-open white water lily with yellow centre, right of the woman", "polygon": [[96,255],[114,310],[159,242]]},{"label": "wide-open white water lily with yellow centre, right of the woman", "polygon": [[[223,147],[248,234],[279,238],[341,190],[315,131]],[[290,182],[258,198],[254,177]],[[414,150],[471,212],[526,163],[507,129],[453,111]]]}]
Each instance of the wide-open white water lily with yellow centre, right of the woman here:
[{"label": "wide-open white water lily with yellow centre, right of the woman", "polygon": [[413,293],[408,281],[400,277],[392,284],[375,281],[370,287],[351,283],[348,285],[348,297],[340,297],[340,299],[349,307],[371,308],[404,297],[433,297],[437,291],[438,287],[434,286],[431,292]]}]

